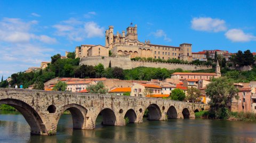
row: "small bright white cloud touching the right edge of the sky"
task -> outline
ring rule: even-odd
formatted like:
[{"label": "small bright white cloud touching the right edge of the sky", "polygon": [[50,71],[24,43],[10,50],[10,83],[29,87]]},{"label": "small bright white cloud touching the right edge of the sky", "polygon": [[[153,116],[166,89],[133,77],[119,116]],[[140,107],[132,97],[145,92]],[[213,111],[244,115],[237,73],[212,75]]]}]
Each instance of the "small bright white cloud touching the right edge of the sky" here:
[{"label": "small bright white cloud touching the right edge of the sky", "polygon": [[225,33],[226,38],[233,42],[246,42],[256,40],[256,36],[250,33],[244,33],[241,29],[230,29]]}]

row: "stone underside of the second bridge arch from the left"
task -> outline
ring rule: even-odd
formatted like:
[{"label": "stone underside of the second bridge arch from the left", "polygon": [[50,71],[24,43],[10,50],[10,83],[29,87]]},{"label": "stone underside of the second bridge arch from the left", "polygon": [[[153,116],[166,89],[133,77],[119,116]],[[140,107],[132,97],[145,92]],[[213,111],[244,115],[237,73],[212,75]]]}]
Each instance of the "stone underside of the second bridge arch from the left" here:
[{"label": "stone underside of the second bridge arch from the left", "polygon": [[[85,117],[87,114],[87,110],[85,107],[78,104],[68,104],[61,107],[60,115],[63,114],[65,111],[70,112],[73,120],[74,129],[85,129],[85,123],[86,123]],[[60,116],[59,116],[59,119],[60,119]]]}]

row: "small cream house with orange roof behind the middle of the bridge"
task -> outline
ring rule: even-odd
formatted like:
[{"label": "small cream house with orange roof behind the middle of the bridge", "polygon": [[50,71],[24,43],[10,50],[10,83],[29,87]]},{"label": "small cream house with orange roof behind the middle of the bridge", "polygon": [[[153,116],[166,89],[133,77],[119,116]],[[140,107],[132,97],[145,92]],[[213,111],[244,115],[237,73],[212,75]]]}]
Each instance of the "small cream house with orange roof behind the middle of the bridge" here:
[{"label": "small cream house with orange roof behind the middle of the bridge", "polygon": [[135,83],[132,86],[131,96],[146,97],[154,94],[162,94],[162,87],[145,83]]}]

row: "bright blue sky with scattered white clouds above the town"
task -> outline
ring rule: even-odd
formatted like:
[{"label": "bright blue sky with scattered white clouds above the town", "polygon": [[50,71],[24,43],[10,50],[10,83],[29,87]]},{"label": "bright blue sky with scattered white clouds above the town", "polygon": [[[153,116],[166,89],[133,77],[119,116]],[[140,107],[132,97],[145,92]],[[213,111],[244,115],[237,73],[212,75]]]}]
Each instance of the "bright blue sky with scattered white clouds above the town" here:
[{"label": "bright blue sky with scattered white clouds above the town", "polygon": [[138,26],[152,44],[256,52],[256,1],[0,1],[0,75],[40,66],[105,31]]}]

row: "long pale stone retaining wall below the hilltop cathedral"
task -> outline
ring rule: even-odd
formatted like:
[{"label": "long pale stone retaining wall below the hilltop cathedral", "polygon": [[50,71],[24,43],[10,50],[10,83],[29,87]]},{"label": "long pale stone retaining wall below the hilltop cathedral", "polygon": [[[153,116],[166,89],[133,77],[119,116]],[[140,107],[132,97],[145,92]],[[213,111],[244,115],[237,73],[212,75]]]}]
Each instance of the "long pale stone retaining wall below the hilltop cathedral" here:
[{"label": "long pale stone retaining wall below the hilltop cathedral", "polygon": [[102,57],[102,56],[90,56],[83,57],[80,60],[79,65],[98,65],[99,63],[103,64],[105,68],[109,66],[111,61],[111,66],[117,66],[124,70],[133,69],[139,66],[145,66],[150,68],[166,68],[168,70],[174,70],[181,68],[183,70],[206,70],[211,69],[211,66],[205,65],[193,65],[193,64],[178,64],[178,63],[160,63],[160,62],[145,62],[145,61],[131,61],[130,56],[116,56],[116,57]]}]

